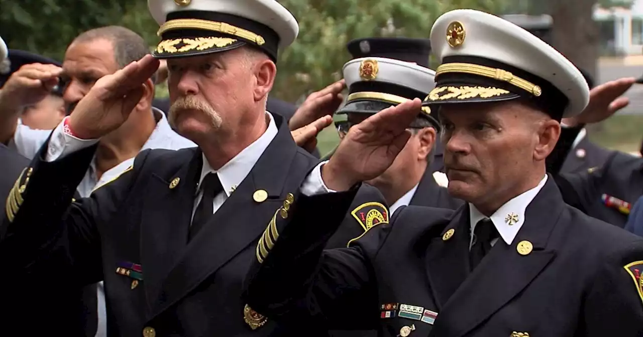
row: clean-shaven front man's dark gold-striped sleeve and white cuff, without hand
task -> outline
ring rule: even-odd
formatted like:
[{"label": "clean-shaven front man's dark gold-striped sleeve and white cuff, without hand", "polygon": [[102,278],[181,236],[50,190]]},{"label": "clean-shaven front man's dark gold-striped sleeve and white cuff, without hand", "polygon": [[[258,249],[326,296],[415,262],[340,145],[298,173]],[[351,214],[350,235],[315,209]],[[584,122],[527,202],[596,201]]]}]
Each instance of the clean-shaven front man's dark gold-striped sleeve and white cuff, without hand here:
[{"label": "clean-shaven front man's dark gold-striped sleeve and white cuff, without hand", "polygon": [[307,177],[298,196],[276,211],[260,238],[244,298],[258,313],[290,327],[370,328],[365,326],[370,322],[359,318],[360,311],[370,313],[372,300],[375,304],[370,307],[376,310],[377,306],[363,250],[323,250],[358,188],[320,194],[319,169]]}]

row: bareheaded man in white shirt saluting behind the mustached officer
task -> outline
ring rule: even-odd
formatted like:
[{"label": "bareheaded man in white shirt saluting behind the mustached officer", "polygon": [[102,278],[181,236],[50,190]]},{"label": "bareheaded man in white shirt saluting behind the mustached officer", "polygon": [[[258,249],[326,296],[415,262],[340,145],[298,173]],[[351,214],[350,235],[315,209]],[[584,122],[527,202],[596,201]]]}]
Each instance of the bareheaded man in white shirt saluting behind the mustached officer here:
[{"label": "bareheaded man in white shirt saluting behind the mustached officer", "polygon": [[[78,35],[65,53],[62,68],[55,64],[23,65],[12,73],[0,92],[0,143],[8,143],[10,148],[32,159],[49,139],[51,130],[33,130],[17,123],[24,107],[41,103],[42,99],[64,83],[62,98],[66,110],[71,112],[97,80],[115,73],[147,53],[147,43],[140,35],[120,26],[106,26]],[[77,186],[76,198],[88,197],[97,187],[118,177],[131,166],[134,157],[142,150],[178,150],[195,146],[192,141],[176,134],[163,112],[152,107],[154,79],[150,78],[144,87],[143,96],[127,121],[100,139],[89,169]],[[102,283],[85,287],[82,295],[77,293],[78,290],[80,288],[70,285],[68,302],[82,303],[86,315],[72,313],[71,310],[69,315],[80,316],[84,322],[67,326],[84,327],[89,337],[95,334],[98,337],[106,336],[107,316]],[[47,299],[44,301],[52,302]],[[65,311],[64,307],[59,310],[61,315]]]}]

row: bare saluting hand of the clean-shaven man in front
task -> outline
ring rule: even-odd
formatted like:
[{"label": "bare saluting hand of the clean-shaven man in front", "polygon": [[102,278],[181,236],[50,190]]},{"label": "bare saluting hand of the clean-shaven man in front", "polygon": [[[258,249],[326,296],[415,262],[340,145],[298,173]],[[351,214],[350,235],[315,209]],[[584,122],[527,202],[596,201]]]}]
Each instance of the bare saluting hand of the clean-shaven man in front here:
[{"label": "bare saluting hand of the clean-shaven man in front", "polygon": [[331,160],[321,168],[324,184],[335,191],[347,191],[384,173],[406,145],[411,135],[406,128],[421,106],[420,99],[415,98],[381,110],[350,128]]}]

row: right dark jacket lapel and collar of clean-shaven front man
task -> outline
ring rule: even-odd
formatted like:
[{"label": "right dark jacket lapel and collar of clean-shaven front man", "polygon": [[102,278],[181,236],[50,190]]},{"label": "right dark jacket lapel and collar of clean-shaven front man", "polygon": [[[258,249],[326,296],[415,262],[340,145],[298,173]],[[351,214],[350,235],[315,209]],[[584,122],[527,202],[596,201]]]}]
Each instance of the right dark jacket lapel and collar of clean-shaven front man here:
[{"label": "right dark jacket lapel and collar of clean-shaven front man", "polygon": [[[463,336],[527,287],[554,258],[555,252],[547,248],[547,239],[563,205],[556,183],[548,177],[548,182],[527,207],[525,223],[511,246],[498,240],[442,308],[431,336]],[[533,245],[527,255],[517,251],[518,243],[523,240]]]}]

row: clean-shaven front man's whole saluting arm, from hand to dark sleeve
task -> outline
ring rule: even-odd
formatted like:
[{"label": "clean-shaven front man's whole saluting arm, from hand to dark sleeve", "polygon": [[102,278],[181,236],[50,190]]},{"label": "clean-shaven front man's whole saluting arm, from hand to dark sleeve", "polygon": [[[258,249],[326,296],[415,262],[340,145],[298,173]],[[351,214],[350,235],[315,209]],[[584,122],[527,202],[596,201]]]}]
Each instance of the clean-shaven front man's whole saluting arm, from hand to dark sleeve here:
[{"label": "clean-shaven front man's whole saluting arm, from hand to dark sleeve", "polygon": [[[377,288],[368,256],[377,254],[391,227],[372,227],[375,230],[368,230],[355,248],[323,253],[323,247],[349,210],[358,183],[391,166],[410,137],[406,128],[420,111],[416,98],[350,128],[329,162],[316,166],[306,178],[303,195],[294,204],[284,203],[260,239],[258,261],[249,271],[245,296],[251,307],[293,325],[312,319],[329,328],[345,324],[368,329],[358,326],[362,320],[355,317],[363,314],[366,325],[368,318],[377,319],[377,302],[370,302],[377,301]],[[343,192],[324,193],[328,187]],[[359,296],[361,292],[367,295]],[[342,315],[342,309],[349,313]]]}]

